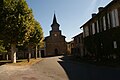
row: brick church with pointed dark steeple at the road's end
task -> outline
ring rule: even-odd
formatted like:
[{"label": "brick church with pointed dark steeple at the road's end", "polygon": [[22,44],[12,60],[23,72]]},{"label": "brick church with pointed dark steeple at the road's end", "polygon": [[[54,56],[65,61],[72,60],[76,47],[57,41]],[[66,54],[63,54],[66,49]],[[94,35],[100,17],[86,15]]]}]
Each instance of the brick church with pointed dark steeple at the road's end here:
[{"label": "brick church with pointed dark steeple at the road's end", "polygon": [[52,30],[49,32],[50,36],[45,37],[45,56],[57,56],[66,53],[67,45],[65,36],[59,30],[60,25],[57,22],[56,15],[54,14]]}]

